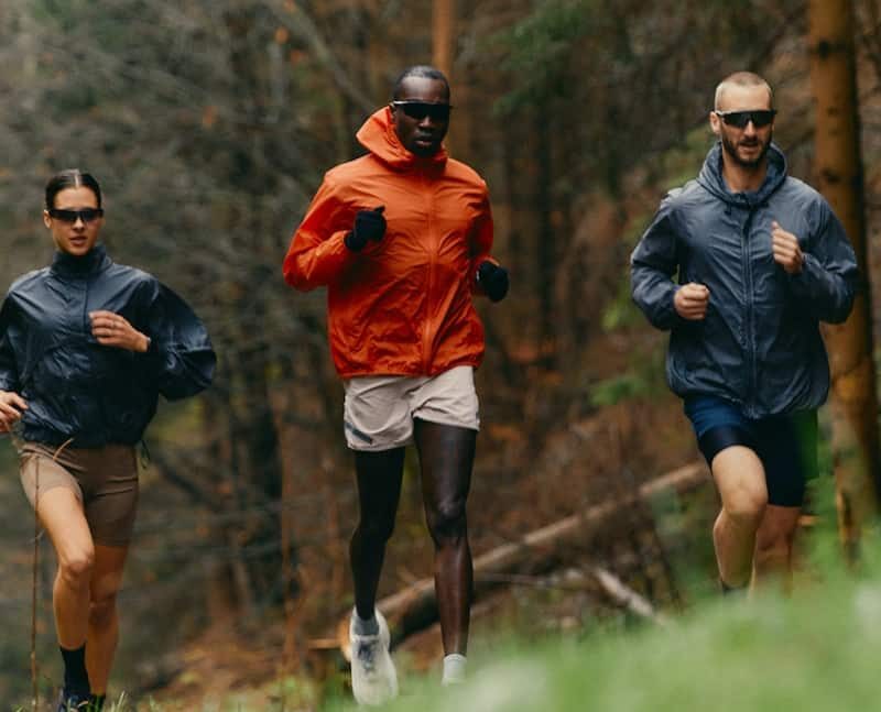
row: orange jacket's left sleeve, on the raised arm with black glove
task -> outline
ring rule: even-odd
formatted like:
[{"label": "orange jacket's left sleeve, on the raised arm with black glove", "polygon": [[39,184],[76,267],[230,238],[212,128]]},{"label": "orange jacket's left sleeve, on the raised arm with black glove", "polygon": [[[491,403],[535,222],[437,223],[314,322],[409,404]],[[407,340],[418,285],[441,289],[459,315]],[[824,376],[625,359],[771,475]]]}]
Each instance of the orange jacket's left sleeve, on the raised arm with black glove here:
[{"label": "orange jacket's left sleeve, on the raised arm with black glove", "polygon": [[308,292],[337,280],[357,256],[342,242],[352,221],[333,180],[325,176],[291,239],[284,258],[284,281],[295,289]]}]

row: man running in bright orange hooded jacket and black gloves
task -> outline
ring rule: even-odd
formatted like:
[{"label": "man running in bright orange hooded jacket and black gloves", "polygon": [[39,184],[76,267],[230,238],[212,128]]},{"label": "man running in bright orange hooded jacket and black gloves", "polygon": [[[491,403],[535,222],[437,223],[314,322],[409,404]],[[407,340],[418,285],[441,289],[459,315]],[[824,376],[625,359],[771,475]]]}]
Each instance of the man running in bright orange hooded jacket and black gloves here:
[{"label": "man running in bright orange hooded jacket and black gloves", "polygon": [[358,131],[369,153],[328,171],[284,260],[293,287],[327,286],[330,348],[346,390],[360,504],[350,545],[352,691],[362,704],[398,690],[374,603],[413,441],[435,545],[443,681],[465,672],[472,581],[465,505],[479,428],[474,369],[483,355],[471,297],[504,298],[508,272],[489,254],[486,184],[442,145],[449,114],[444,75],[406,69],[392,102]]}]

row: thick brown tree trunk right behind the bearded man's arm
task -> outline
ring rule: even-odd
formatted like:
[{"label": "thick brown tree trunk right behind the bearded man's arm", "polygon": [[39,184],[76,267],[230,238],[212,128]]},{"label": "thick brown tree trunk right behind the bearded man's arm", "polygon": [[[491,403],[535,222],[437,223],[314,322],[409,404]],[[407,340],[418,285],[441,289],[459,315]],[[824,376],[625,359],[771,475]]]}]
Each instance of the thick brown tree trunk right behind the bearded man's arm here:
[{"label": "thick brown tree trunk right behind the bearded man's arm", "polygon": [[833,448],[839,533],[852,551],[878,508],[878,412],[866,260],[859,106],[849,0],[808,2],[811,85],[816,101],[818,188],[844,222],[866,288],[842,325],[824,329],[831,366]]}]

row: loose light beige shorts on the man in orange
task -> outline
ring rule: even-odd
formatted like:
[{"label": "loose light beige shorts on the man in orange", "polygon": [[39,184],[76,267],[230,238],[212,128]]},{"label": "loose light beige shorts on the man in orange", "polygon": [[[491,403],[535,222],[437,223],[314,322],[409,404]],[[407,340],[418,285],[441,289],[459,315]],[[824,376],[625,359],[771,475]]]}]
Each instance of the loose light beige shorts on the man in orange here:
[{"label": "loose light beige shorts on the man in orange", "polygon": [[480,429],[474,368],[436,376],[357,376],[345,382],[344,428],[352,450],[380,451],[413,441],[413,418]]}]

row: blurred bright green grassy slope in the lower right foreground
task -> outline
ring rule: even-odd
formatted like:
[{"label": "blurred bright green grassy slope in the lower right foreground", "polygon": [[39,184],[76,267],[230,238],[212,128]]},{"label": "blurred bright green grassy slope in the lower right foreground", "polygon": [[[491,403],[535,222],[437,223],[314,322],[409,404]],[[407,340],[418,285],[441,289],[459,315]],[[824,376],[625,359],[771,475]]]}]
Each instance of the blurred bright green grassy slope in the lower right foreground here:
[{"label": "blurred bright green grassy slope in the lower right foreground", "polygon": [[387,709],[870,710],[878,709],[879,658],[881,580],[827,581],[790,600],[719,600],[663,629],[513,644],[474,660],[460,687],[404,680]]}]

